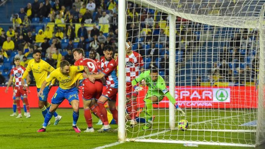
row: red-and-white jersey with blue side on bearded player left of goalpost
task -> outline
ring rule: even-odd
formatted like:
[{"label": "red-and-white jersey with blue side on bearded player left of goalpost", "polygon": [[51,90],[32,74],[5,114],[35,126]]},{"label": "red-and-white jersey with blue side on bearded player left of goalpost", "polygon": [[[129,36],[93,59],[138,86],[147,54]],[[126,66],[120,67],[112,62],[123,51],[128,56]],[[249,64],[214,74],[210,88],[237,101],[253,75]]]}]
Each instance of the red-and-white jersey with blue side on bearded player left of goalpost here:
[{"label": "red-and-white jersey with blue side on bearded player left of goalpost", "polygon": [[118,78],[117,78],[117,64],[114,59],[107,61],[101,59],[101,70],[105,75],[106,85],[112,88],[118,88]]}]

